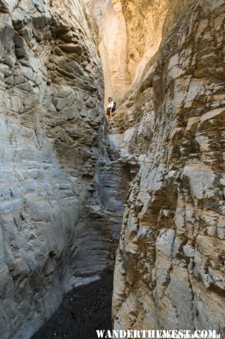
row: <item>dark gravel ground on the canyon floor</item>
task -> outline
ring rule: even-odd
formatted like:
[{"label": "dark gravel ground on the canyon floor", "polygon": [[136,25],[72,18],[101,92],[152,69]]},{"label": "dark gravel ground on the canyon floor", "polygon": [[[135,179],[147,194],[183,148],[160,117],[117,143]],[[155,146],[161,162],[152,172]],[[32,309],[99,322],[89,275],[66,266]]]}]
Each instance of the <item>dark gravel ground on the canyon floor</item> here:
[{"label": "dark gravel ground on the canyon floor", "polygon": [[59,309],[32,339],[96,339],[96,330],[111,330],[113,273],[68,292]]}]

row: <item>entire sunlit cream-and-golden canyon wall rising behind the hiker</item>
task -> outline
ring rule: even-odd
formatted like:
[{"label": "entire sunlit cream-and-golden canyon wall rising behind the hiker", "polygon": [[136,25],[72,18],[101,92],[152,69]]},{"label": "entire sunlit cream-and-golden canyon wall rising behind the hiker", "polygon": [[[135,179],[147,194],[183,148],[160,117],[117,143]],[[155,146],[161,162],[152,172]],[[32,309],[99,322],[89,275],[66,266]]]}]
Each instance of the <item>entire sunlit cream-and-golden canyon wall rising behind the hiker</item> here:
[{"label": "entire sunlit cream-and-golden canyon wall rising behind the hiker", "polygon": [[105,100],[123,100],[140,83],[146,64],[193,0],[85,0],[98,36]]}]

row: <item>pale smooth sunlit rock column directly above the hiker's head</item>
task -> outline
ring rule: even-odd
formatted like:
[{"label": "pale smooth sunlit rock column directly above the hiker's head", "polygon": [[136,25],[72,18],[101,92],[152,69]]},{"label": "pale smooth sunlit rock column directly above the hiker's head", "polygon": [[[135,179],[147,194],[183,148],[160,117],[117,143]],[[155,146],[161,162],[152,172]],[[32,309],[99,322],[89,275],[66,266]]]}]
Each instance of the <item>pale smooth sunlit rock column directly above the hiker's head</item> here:
[{"label": "pale smooth sunlit rock column directly above the hiker's head", "polygon": [[130,87],[126,22],[121,0],[86,0],[98,35],[104,71],[105,104],[121,100]]}]

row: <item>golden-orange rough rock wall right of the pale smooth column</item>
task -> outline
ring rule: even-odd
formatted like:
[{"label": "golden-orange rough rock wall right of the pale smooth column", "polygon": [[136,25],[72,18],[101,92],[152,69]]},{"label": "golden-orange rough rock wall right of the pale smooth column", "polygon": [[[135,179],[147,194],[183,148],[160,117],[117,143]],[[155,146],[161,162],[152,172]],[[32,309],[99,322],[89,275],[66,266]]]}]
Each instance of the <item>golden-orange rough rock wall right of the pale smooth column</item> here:
[{"label": "golden-orange rough rock wall right of the pale smooth column", "polygon": [[128,35],[128,70],[134,86],[149,60],[157,54],[181,13],[194,0],[121,0]]}]

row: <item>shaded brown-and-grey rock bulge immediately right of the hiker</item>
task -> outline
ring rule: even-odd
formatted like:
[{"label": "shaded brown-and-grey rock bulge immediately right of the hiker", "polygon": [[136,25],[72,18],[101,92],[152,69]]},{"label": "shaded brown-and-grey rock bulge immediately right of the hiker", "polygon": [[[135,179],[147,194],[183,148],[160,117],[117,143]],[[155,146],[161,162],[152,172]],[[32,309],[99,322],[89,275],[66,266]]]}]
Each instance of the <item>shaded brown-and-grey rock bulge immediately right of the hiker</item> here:
[{"label": "shaded brown-and-grey rock bulge immediately right of the hiker", "polygon": [[[122,157],[125,157],[128,165],[130,160],[132,162],[135,160],[136,166],[140,165],[150,147],[154,131],[152,98],[152,87],[147,87],[145,90],[136,88],[116,110],[113,126],[109,130],[109,138],[112,146],[119,150]],[[133,174],[136,174],[137,169],[134,167],[133,169]]]}]

